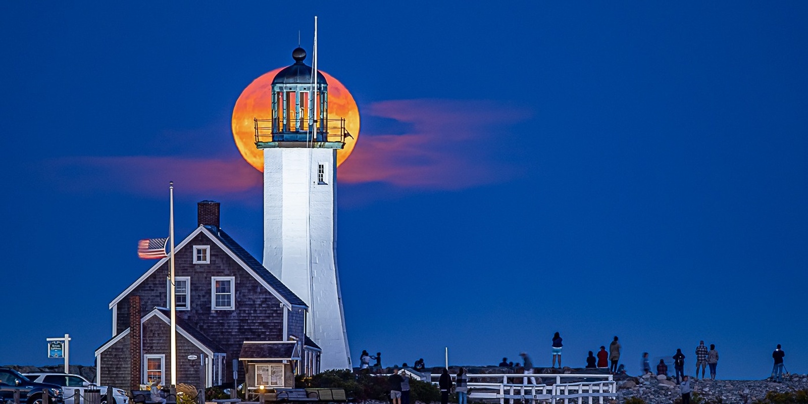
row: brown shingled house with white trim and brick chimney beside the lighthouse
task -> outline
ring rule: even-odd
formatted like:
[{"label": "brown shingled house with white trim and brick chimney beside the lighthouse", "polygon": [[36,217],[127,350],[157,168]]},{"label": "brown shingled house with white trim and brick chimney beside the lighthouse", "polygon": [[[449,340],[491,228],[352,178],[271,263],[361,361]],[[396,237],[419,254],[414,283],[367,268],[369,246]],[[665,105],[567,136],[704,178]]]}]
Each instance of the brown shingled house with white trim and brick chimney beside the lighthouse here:
[{"label": "brown shingled house with white trim and brick chimney beside the lighthouse", "polygon": [[[292,387],[319,371],[305,337],[308,307],[219,226],[220,206],[197,204],[198,227],[175,246],[177,382]],[[112,339],[95,351],[97,383],[170,383],[169,259],[110,304]],[[202,380],[204,377],[204,380]]]}]

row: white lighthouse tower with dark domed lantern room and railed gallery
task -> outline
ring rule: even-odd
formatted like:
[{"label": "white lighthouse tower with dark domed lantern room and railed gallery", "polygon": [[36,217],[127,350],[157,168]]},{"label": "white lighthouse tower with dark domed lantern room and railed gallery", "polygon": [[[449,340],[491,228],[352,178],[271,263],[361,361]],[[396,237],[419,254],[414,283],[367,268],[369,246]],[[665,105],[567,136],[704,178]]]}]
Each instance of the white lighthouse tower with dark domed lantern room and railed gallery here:
[{"label": "white lighthouse tower with dark domed lantern room and railed gallery", "polygon": [[263,265],[309,305],[306,335],[322,348],[320,368],[351,368],[336,261],[336,154],[347,132],[345,120],[329,120],[328,82],[305,57],[292,51],[295,63],[272,80],[271,119],[255,120]]}]

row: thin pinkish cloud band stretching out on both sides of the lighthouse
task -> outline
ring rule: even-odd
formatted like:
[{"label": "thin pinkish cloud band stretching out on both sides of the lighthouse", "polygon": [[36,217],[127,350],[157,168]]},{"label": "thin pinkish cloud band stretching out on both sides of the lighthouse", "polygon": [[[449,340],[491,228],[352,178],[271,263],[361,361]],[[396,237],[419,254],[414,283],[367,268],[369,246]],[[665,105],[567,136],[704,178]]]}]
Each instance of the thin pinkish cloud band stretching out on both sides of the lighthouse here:
[{"label": "thin pinkish cloud band stretching out on both sides of the lighthouse", "polygon": [[[353,185],[361,194],[374,184],[391,194],[457,190],[507,181],[524,171],[507,161],[507,145],[516,140],[509,126],[528,119],[527,110],[493,101],[407,99],[372,103],[366,111],[394,120],[406,130],[396,135],[362,133],[338,171],[340,183]],[[106,190],[151,197],[164,197],[168,181],[173,180],[188,196],[229,194],[238,199],[240,194],[251,199],[263,181],[262,174],[238,154],[230,158],[59,158],[45,169],[45,178],[64,191]]]}]

